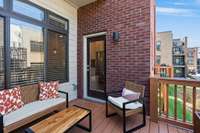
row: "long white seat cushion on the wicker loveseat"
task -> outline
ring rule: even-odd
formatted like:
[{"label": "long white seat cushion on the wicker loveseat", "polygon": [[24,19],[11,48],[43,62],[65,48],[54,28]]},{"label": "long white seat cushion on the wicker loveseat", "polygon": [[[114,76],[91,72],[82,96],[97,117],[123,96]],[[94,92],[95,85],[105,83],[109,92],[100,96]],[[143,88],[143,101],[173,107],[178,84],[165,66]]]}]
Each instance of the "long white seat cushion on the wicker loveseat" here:
[{"label": "long white seat cushion on the wicker loveseat", "polygon": [[35,113],[39,113],[57,104],[63,103],[66,100],[64,98],[48,99],[43,101],[35,101],[24,105],[22,108],[11,112],[3,117],[4,126],[8,126],[12,123],[18,122],[24,118],[27,118]]}]

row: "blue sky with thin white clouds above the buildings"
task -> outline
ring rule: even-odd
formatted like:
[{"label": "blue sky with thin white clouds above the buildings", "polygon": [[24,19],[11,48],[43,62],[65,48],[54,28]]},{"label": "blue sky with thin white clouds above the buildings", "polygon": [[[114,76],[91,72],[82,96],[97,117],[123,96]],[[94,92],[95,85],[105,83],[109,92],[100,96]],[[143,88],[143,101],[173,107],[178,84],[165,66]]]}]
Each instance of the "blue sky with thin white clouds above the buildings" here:
[{"label": "blue sky with thin white clouds above the buildings", "polygon": [[188,37],[189,47],[200,47],[200,0],[157,0],[157,32]]}]

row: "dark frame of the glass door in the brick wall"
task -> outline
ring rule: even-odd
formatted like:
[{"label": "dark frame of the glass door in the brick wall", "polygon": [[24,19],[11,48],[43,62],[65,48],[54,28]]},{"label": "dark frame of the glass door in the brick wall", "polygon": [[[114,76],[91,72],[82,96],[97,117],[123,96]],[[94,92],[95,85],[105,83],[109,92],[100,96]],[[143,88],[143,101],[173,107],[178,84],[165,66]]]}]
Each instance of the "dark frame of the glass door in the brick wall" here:
[{"label": "dark frame of the glass door in the brick wall", "polygon": [[[105,73],[105,86],[104,92],[97,92],[90,90],[90,42],[104,41],[104,73]],[[94,36],[87,38],[87,95],[89,97],[105,100],[106,96],[106,35]]]}]

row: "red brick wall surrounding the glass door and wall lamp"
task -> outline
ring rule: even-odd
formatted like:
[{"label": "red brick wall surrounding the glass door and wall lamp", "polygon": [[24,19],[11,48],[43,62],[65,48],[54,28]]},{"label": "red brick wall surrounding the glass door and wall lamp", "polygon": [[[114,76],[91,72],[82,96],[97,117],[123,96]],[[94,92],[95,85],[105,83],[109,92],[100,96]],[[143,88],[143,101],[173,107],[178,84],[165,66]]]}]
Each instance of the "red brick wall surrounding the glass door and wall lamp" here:
[{"label": "red brick wall surrounding the glass door and wall lamp", "polygon": [[[153,0],[98,0],[78,9],[78,96],[83,96],[83,35],[107,32],[106,88],[120,89],[125,80],[146,86],[153,70]],[[113,42],[112,32],[120,32]]]}]

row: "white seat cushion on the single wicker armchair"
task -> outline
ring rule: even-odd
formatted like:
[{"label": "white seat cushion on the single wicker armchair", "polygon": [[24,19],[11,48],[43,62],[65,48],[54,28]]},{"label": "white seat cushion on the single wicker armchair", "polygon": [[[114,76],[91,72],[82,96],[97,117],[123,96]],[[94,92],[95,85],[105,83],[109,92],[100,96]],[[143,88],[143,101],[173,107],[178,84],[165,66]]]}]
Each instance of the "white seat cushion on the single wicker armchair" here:
[{"label": "white seat cushion on the single wicker armchair", "polygon": [[[129,100],[125,99],[123,97],[111,97],[111,96],[109,96],[108,101],[110,101],[114,105],[123,109],[123,103],[128,102]],[[142,107],[142,104],[140,102],[129,103],[129,104],[126,105],[126,109],[137,109],[137,108],[141,108],[141,107]]]}]

